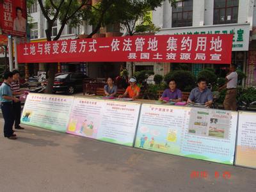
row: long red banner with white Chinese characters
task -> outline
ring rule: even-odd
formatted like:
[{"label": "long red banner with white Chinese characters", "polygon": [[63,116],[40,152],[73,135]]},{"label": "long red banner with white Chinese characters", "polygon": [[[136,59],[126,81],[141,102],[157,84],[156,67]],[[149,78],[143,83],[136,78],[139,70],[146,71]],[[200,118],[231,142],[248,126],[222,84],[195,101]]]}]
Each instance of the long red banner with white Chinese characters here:
[{"label": "long red banner with white Chinese characters", "polygon": [[38,42],[18,45],[18,61],[230,64],[232,39],[233,35],[155,35]]}]

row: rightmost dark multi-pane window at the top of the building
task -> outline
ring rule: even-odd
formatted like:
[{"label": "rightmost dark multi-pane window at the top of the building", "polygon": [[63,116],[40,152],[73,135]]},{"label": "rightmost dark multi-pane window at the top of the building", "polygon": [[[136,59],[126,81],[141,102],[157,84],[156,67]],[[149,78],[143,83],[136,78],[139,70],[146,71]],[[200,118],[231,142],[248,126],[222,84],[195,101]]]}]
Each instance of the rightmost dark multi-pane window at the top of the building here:
[{"label": "rightmost dark multi-pane window at the top of the building", "polygon": [[213,24],[237,23],[239,0],[214,0]]}]

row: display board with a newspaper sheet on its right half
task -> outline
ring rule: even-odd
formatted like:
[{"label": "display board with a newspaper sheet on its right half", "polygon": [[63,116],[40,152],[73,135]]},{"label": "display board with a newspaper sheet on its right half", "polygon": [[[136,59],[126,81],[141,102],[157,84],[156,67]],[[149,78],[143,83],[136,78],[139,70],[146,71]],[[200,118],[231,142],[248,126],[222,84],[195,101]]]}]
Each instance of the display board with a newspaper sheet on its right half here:
[{"label": "display board with a newspaper sheet on its right half", "polygon": [[135,147],[233,164],[236,126],[236,112],[143,104]]}]

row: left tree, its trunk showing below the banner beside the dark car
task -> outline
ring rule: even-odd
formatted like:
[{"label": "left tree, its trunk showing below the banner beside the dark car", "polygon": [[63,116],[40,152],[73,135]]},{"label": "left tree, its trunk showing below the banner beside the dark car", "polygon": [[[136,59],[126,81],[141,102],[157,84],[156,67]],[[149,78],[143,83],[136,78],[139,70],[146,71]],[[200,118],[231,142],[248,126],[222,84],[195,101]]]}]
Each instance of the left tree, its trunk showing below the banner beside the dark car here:
[{"label": "left tree, its trunk showing below the banner beside the dark car", "polygon": [[[108,9],[117,1],[118,0],[102,0],[100,3],[93,6],[90,0],[38,0],[42,13],[47,20],[47,29],[45,29],[47,41],[58,40],[66,24],[76,27],[82,24],[83,20],[88,20],[90,24],[96,26],[92,33],[88,35],[88,38],[92,37],[102,26],[104,15],[106,15]],[[52,39],[52,26],[54,22],[57,21],[60,22],[61,27],[58,30],[58,34]],[[49,63],[48,65],[49,71],[46,93],[52,93],[56,63]]]}]

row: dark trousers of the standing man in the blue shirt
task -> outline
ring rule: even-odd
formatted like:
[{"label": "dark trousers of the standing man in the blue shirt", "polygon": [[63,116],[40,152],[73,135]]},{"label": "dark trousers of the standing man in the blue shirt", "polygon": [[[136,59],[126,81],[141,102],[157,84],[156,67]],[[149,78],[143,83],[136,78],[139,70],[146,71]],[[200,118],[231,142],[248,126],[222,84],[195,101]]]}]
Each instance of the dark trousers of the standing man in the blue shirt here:
[{"label": "dark trousers of the standing man in the blue shirt", "polygon": [[12,102],[2,102],[1,109],[4,118],[4,137],[8,138],[13,134],[13,105]]}]

